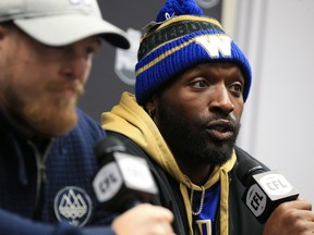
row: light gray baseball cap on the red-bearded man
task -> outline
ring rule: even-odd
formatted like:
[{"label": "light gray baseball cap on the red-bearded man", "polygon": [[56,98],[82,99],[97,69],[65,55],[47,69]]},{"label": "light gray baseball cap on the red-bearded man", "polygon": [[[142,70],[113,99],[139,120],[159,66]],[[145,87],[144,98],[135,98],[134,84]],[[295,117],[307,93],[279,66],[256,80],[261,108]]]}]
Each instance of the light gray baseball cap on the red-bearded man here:
[{"label": "light gray baseball cap on the red-bearded man", "polygon": [[100,35],[116,47],[130,47],[125,32],[102,18],[97,0],[0,0],[0,22],[5,21],[48,46]]}]

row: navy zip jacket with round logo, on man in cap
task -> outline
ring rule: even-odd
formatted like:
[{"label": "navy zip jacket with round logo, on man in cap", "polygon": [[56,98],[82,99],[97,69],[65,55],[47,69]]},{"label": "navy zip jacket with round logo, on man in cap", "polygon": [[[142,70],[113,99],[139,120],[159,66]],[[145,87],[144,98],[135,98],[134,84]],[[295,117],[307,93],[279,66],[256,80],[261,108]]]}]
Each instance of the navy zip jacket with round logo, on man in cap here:
[{"label": "navy zip jacket with round logo, on man in cap", "polygon": [[0,113],[1,235],[114,234],[109,226],[77,228],[112,219],[99,210],[92,188],[94,146],[105,132],[77,113],[78,125],[55,139],[25,136]]}]

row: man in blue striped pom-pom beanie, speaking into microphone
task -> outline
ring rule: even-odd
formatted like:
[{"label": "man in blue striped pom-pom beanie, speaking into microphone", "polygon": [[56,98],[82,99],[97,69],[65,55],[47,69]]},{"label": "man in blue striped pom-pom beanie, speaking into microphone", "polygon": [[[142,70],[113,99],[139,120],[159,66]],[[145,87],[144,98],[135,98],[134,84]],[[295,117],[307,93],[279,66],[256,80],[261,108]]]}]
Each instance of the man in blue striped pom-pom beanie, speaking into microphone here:
[{"label": "man in blue striped pom-pom beanie, speaking into microphone", "polygon": [[[254,160],[235,146],[251,79],[249,61],[216,20],[194,0],[168,0],[141,39],[135,96],[124,92],[101,116],[109,135],[148,160],[160,188],[154,202],[172,210],[177,234],[263,234],[235,175],[241,161]],[[286,202],[265,234],[314,231],[310,210]]]}]

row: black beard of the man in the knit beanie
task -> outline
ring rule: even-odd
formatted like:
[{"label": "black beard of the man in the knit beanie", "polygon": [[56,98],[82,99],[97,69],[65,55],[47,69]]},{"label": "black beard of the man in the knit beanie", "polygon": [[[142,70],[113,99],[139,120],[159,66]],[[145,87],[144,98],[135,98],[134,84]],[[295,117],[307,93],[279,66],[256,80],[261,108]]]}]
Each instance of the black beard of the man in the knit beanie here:
[{"label": "black beard of the man in the knit beanie", "polygon": [[240,131],[240,122],[235,122],[230,115],[217,114],[213,120],[228,119],[233,123],[233,138],[221,141],[207,134],[206,124],[208,119],[186,121],[182,115],[177,114],[164,106],[158,104],[158,127],[166,143],[171,149],[177,161],[183,164],[212,166],[226,163],[232,154],[235,140]]}]

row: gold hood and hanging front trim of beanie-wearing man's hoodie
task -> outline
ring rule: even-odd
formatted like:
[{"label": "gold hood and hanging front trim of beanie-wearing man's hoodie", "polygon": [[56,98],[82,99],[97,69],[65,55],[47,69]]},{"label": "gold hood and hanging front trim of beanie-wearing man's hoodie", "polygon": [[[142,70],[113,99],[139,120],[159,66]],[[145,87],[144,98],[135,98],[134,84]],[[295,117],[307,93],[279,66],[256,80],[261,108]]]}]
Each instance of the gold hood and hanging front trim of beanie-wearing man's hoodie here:
[{"label": "gold hood and hanging front trim of beanie-wearing man's hoodie", "polygon": [[[188,188],[202,191],[202,187],[193,184],[189,177],[180,171],[157,126],[145,110],[136,103],[134,95],[123,92],[120,103],[113,107],[110,112],[101,114],[101,126],[107,131],[118,132],[131,138],[166,172],[172,175],[180,183],[180,191],[185,205],[190,234],[193,235],[192,207],[189,199]],[[233,151],[231,159],[224,165],[216,166],[204,185],[204,188],[207,189],[220,181],[221,191],[219,210],[221,235],[228,235],[228,173],[233,168],[235,159],[235,152]]]}]

